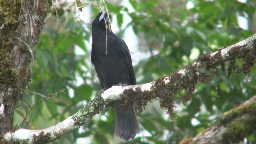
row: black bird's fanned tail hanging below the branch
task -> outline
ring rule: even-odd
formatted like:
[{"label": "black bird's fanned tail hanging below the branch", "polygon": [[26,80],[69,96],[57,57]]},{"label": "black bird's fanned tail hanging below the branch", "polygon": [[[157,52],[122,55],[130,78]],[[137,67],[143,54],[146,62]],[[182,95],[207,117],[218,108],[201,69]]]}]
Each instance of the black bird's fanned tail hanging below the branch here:
[{"label": "black bird's fanned tail hanging below the branch", "polygon": [[140,124],[132,105],[124,108],[119,102],[114,102],[116,113],[115,135],[126,141],[133,139],[140,131]]}]

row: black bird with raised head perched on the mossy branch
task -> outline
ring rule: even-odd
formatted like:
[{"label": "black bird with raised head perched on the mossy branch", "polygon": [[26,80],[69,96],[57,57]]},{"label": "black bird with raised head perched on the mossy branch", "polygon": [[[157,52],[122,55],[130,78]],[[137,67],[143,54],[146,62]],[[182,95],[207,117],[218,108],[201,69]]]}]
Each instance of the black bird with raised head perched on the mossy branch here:
[{"label": "black bird with raised head perched on the mossy branch", "polygon": [[[124,40],[114,34],[110,28],[106,28],[106,24],[109,27],[108,12],[99,12],[92,22],[91,60],[101,87],[106,90],[118,84],[135,85],[130,51]],[[115,101],[114,107],[115,135],[126,141],[133,139],[136,132],[140,131],[140,124],[132,105],[123,108],[119,102]]]}]

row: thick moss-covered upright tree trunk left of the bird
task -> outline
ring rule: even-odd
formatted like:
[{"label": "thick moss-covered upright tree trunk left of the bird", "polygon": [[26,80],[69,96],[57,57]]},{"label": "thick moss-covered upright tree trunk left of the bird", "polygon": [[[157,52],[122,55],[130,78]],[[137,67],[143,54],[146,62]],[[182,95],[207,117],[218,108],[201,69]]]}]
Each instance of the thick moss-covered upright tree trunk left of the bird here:
[{"label": "thick moss-covered upright tree trunk left of the bird", "polygon": [[13,129],[15,104],[29,89],[30,63],[51,5],[51,0],[0,1],[1,135]]}]

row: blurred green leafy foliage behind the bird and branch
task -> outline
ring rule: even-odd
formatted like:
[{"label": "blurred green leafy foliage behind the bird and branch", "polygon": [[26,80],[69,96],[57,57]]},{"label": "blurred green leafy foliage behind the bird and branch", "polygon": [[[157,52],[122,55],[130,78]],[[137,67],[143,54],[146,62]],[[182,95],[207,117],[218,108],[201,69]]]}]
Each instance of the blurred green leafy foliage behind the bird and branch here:
[{"label": "blurred green leafy foliage behind the bird and branch", "polygon": [[[102,1],[96,2],[106,10]],[[255,0],[247,3],[237,0],[129,0],[127,3],[129,6],[116,0],[106,2],[106,6],[112,22],[117,23],[119,32],[116,34],[124,38],[128,27],[132,27],[138,38],[136,49],[149,55],[137,58],[140,60],[134,65],[138,84],[170,74],[202,54],[235,44],[256,32]],[[188,8],[191,4],[194,7]],[[91,22],[100,10],[93,3],[87,7],[90,13],[85,14],[90,22],[76,22],[74,2],[63,1],[56,5],[36,47],[30,90],[14,113],[16,128],[42,129],[57,124],[77,112],[101,89],[90,62]],[[123,22],[127,16],[124,15],[131,18],[126,26]],[[248,29],[240,28],[238,16],[249,20]],[[187,104],[182,104],[181,98],[176,99],[176,120],[166,116],[157,100],[148,104],[144,112],[138,114],[142,132],[128,143],[178,143],[182,138],[194,137],[214,124],[225,111],[256,94],[255,68],[250,76],[233,72],[229,79],[220,68],[219,72],[218,76],[212,74],[211,82],[198,84]],[[60,92],[63,89],[65,92]],[[181,91],[179,96],[183,95]],[[256,133],[245,140],[256,142]],[[111,106],[54,143],[64,142],[124,143],[114,137]]]}]

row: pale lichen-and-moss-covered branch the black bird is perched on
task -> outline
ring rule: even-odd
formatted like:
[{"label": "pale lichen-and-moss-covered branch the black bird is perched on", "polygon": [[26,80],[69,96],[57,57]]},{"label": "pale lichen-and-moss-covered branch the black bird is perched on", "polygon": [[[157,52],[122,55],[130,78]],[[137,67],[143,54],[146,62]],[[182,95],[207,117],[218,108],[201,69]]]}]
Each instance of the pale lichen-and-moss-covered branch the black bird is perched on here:
[{"label": "pale lichen-and-moss-covered branch the black bird is perched on", "polygon": [[[194,60],[178,72],[161,76],[153,82],[134,86],[112,86],[105,90],[100,95],[100,98],[94,98],[76,114],[55,126],[43,130],[20,129],[4,134],[3,138],[7,142],[52,142],[82,126],[92,116],[106,109],[110,102],[114,100],[121,100],[124,105],[133,103],[137,110],[142,111],[142,107],[145,108],[148,102],[158,98],[160,106],[166,108],[172,118],[172,110],[176,107],[174,105],[174,98],[177,92],[185,89],[186,94],[183,96],[183,102],[188,102],[188,100],[191,100],[191,94],[195,90],[195,85],[202,80],[210,80],[211,72],[217,74],[217,66],[222,66],[222,71],[226,72],[225,62],[228,61],[230,61],[228,75],[233,70],[237,72],[242,70],[246,75],[249,75],[251,68],[255,64],[255,56],[256,34],[212,54],[200,56],[200,58]],[[242,68],[239,68],[236,59],[242,60]]]}]

